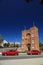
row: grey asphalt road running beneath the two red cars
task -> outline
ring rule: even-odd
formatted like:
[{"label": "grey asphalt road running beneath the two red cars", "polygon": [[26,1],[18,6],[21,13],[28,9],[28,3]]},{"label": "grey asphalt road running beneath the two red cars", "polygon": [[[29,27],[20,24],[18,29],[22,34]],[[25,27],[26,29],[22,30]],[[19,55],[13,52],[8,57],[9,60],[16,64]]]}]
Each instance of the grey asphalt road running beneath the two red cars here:
[{"label": "grey asphalt road running beneath the two red cars", "polygon": [[2,56],[0,55],[0,60],[11,60],[11,59],[30,59],[30,58],[43,58],[43,54],[41,55],[27,55],[27,54],[19,54],[18,56]]}]

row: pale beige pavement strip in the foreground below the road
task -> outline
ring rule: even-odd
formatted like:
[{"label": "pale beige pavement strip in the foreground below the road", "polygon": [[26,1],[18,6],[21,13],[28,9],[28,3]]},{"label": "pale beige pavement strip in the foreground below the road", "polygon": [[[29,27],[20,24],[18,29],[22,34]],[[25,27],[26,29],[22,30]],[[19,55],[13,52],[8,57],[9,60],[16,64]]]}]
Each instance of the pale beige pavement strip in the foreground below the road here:
[{"label": "pale beige pavement strip in the foreground below the road", "polygon": [[0,65],[43,65],[43,58],[0,60]]}]

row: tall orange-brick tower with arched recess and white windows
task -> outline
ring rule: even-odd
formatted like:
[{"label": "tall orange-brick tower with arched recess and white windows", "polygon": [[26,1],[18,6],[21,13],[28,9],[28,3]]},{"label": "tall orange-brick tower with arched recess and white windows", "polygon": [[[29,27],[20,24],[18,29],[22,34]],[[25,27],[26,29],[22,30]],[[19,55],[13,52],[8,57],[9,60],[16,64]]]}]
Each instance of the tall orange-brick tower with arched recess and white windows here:
[{"label": "tall orange-brick tower with arched recess and white windows", "polygon": [[29,30],[22,31],[22,50],[39,50],[39,41],[38,41],[38,28],[36,26],[30,28]]}]

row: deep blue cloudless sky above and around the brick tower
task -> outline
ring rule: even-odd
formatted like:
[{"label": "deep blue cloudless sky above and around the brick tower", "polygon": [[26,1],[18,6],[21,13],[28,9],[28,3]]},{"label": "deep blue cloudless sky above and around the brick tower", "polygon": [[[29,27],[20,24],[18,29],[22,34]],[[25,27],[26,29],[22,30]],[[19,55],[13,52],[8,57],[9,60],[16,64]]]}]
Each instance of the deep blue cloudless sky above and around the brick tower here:
[{"label": "deep blue cloudless sky above and around the brick tower", "polygon": [[43,5],[39,1],[0,0],[0,34],[5,40],[21,42],[22,30],[32,27],[34,21],[43,42]]}]

